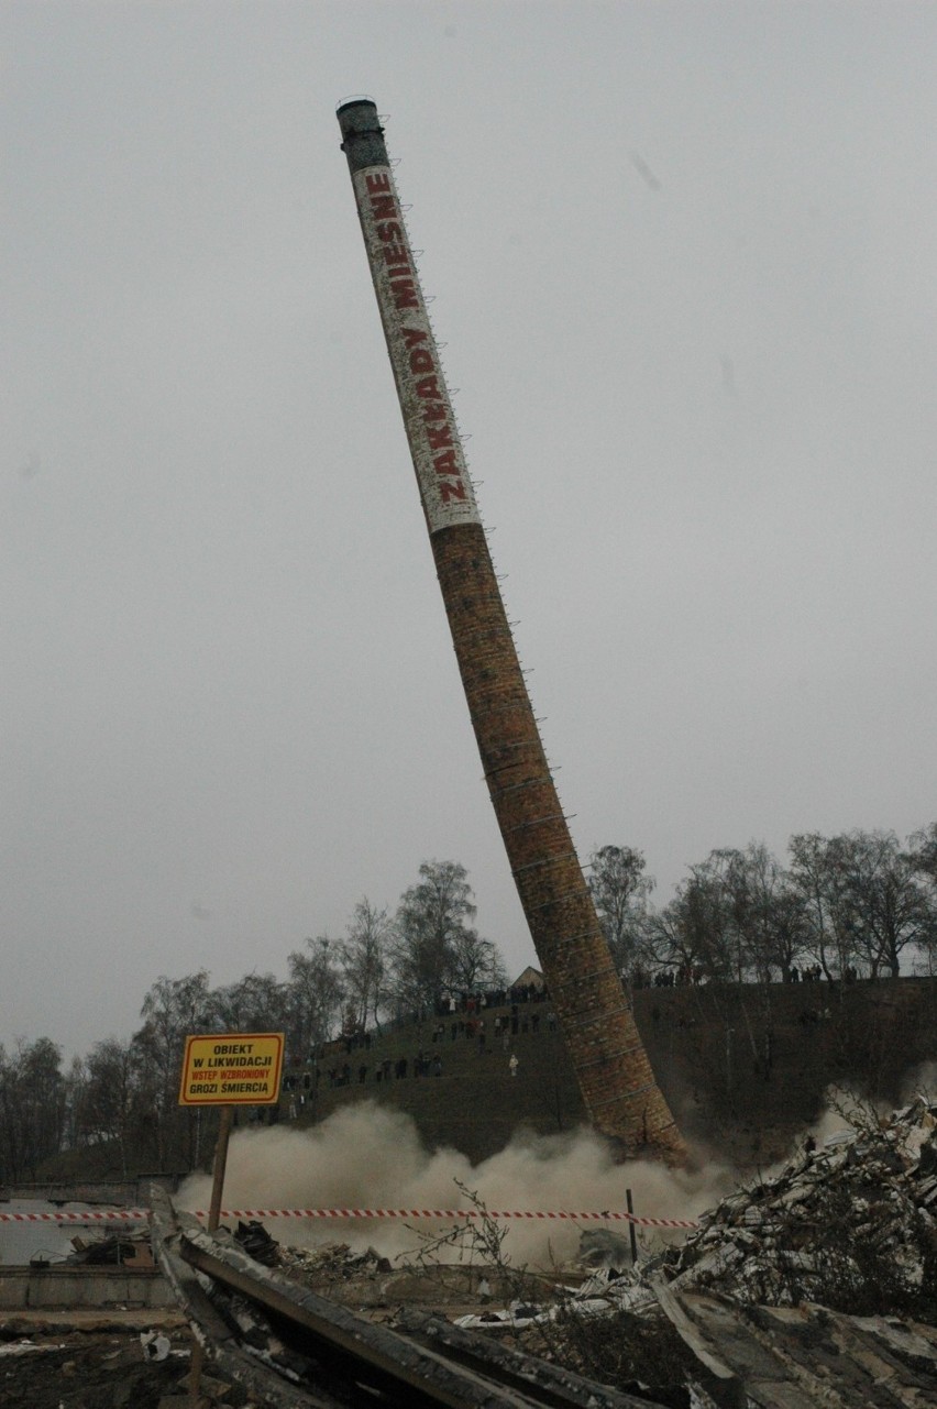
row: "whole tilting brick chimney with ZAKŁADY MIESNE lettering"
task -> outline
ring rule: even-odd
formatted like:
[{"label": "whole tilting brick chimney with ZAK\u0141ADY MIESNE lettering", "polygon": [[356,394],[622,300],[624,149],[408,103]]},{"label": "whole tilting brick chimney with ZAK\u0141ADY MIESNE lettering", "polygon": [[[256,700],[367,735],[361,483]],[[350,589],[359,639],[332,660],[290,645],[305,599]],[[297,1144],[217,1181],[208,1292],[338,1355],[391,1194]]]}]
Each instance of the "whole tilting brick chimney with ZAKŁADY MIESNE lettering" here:
[{"label": "whole tilting brick chimney with ZAK\u0141ADY MIESNE lettering", "polygon": [[628,1154],[683,1158],[547,764],[371,99],[338,108],[371,275],[485,779],[589,1116]]}]

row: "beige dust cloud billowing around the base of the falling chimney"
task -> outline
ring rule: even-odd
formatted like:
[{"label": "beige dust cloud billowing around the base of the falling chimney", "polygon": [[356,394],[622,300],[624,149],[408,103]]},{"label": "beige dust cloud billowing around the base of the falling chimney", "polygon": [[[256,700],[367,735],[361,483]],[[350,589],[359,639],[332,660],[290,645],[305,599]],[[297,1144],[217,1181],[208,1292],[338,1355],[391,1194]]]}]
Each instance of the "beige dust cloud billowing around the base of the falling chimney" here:
[{"label": "beige dust cloud billowing around the base of the falling chimney", "polygon": [[[731,1171],[668,1169],[633,1160],[616,1162],[612,1147],[582,1129],[565,1136],[519,1133],[499,1154],[472,1165],[457,1150],[428,1151],[413,1120],[386,1106],[361,1103],[334,1112],[321,1124],[296,1130],[258,1126],[235,1131],[228,1148],[225,1209],[465,1209],[458,1185],[490,1210],[603,1212],[626,1209],[631,1189],[638,1217],[695,1219],[736,1186]],[[211,1181],[190,1177],[179,1208],[207,1209]],[[282,1243],[316,1246],[342,1241],[373,1247],[385,1257],[413,1254],[421,1239],[451,1227],[428,1219],[271,1219]],[[507,1222],[503,1251],[514,1265],[550,1268],[575,1257],[586,1227],[627,1233],[624,1222]],[[661,1234],[643,1233],[645,1246]]]}]

